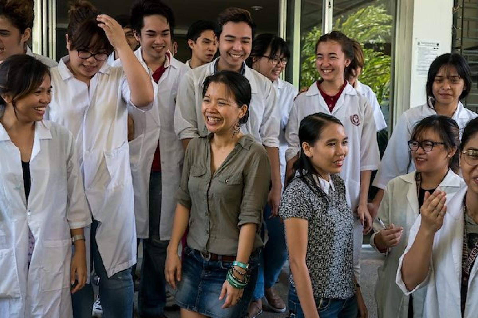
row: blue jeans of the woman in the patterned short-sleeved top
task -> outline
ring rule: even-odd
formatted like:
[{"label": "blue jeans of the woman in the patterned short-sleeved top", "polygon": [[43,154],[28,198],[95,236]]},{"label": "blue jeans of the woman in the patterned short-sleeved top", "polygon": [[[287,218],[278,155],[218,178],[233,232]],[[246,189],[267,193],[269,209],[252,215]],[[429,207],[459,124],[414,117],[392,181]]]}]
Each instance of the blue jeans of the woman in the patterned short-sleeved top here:
[{"label": "blue jeans of the woman in the patterned short-sleeved top", "polygon": [[[348,299],[320,298],[315,300],[320,318],[357,318],[357,297]],[[295,288],[289,286],[289,318],[305,318]]]}]

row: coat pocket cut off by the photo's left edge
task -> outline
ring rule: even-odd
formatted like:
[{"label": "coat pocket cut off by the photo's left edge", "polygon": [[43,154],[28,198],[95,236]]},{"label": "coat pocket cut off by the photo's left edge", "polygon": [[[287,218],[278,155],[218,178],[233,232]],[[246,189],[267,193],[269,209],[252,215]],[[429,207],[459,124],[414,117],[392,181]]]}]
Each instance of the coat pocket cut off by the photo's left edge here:
[{"label": "coat pocket cut off by the photo's left edge", "polygon": [[0,299],[22,299],[13,248],[0,250]]}]

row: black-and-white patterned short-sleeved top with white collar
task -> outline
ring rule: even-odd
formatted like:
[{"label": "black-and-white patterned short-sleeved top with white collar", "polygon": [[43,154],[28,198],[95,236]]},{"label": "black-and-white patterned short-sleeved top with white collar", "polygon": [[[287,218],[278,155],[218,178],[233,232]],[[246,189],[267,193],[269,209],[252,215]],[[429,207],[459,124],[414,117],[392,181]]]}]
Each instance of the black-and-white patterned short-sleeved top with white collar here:
[{"label": "black-and-white patterned short-sleeved top with white collar", "polygon": [[[320,298],[347,299],[355,294],[353,282],[353,215],[347,205],[344,181],[331,174],[334,188],[326,194],[313,180],[296,177],[284,191],[279,215],[307,220],[307,253],[312,290]],[[289,246],[291,248],[291,246]],[[290,277],[294,285],[293,277]]]}]

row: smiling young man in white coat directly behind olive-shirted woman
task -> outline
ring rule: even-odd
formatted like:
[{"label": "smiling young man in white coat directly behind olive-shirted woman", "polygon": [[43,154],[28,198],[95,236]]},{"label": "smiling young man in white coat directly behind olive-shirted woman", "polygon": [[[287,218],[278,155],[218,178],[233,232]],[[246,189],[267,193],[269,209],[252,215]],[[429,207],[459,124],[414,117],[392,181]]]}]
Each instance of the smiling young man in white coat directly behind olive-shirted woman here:
[{"label": "smiling young man in white coat directly behind olive-shirted woman", "polygon": [[189,140],[207,134],[201,113],[202,83],[217,71],[240,72],[250,82],[252,98],[249,105],[248,123],[241,126],[243,133],[250,133],[264,145],[271,161],[272,188],[268,202],[273,215],[277,215],[281,199],[281,176],[279,169],[280,108],[276,107],[276,94],[269,81],[259,72],[250,69],[244,62],[250,54],[254,36],[254,23],[250,12],[239,8],[228,8],[219,14],[216,36],[220,56],[206,65],[187,72],[177,93],[174,128],[187,147]]}]

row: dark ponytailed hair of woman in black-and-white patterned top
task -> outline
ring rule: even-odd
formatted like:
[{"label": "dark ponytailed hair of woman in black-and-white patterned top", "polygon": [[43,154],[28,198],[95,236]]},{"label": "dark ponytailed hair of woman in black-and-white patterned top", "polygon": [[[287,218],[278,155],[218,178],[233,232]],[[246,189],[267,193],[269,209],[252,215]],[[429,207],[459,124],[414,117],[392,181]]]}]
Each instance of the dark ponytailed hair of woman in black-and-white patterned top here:
[{"label": "dark ponytailed hair of woman in black-and-white patterned top", "polygon": [[[299,143],[301,146],[304,142],[310,145],[315,144],[315,142],[320,139],[322,131],[332,123],[343,126],[340,120],[326,113],[315,113],[304,117],[299,125]],[[292,181],[296,172],[305,184],[318,190],[318,187],[312,178],[312,174],[316,172],[315,168],[310,161],[310,158],[304,154],[304,150],[302,149],[299,158],[293,164],[293,174],[289,177],[287,183]]]}]

